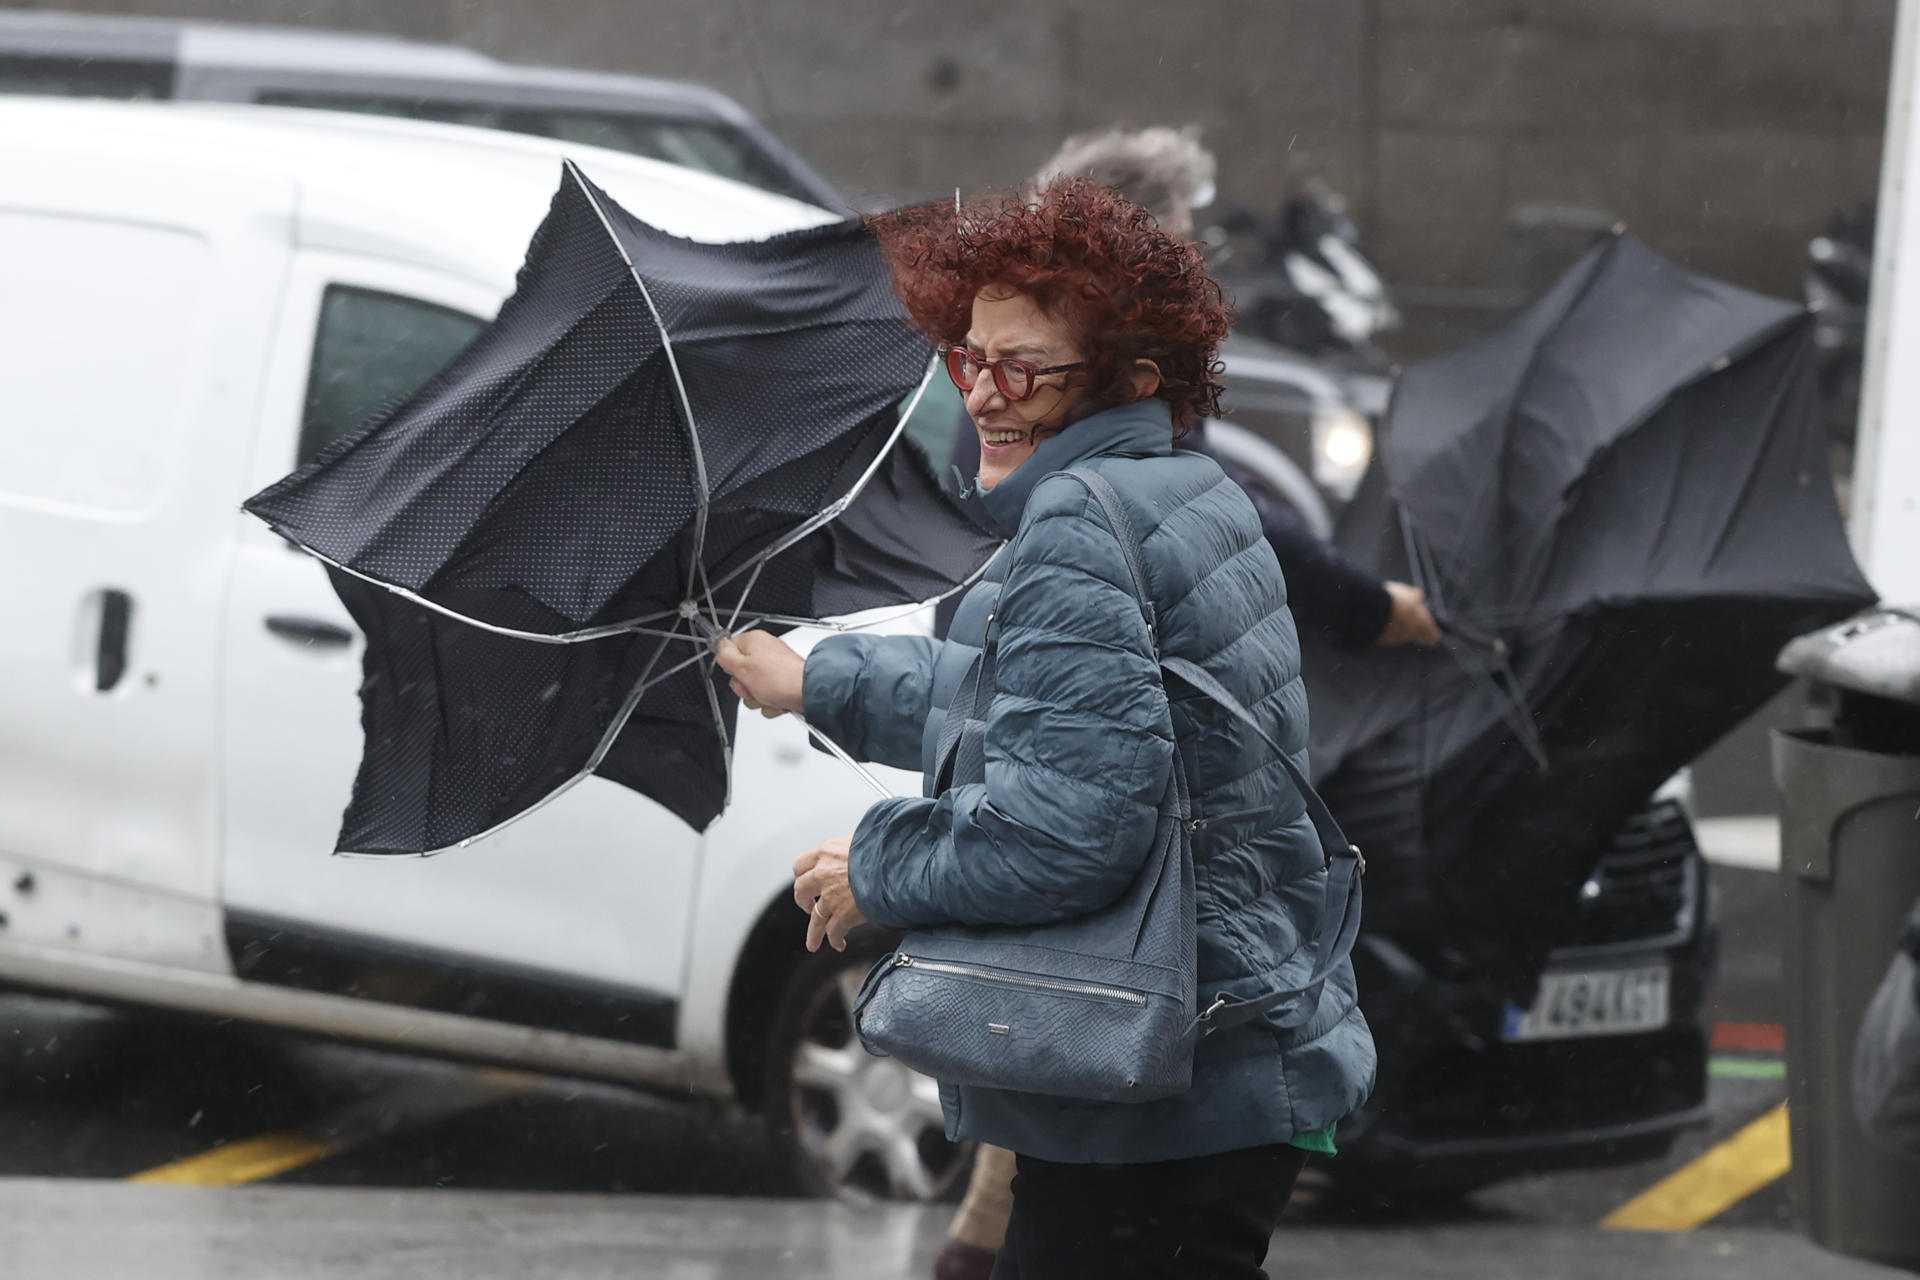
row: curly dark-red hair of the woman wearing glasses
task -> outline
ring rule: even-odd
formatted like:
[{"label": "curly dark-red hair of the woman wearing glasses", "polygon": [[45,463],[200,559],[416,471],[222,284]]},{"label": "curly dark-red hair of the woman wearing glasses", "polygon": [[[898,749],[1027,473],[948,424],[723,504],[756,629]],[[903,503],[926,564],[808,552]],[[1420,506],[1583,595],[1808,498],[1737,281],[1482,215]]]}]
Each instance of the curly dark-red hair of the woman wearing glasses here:
[{"label": "curly dark-red hair of the woman wearing glasses", "polygon": [[1133,399],[1133,361],[1160,367],[1154,391],[1185,434],[1219,413],[1217,351],[1229,307],[1200,249],[1087,178],[964,209],[916,205],[868,219],[908,315],[935,342],[960,345],[983,288],[1018,290],[1066,320],[1087,355],[1089,401]]}]

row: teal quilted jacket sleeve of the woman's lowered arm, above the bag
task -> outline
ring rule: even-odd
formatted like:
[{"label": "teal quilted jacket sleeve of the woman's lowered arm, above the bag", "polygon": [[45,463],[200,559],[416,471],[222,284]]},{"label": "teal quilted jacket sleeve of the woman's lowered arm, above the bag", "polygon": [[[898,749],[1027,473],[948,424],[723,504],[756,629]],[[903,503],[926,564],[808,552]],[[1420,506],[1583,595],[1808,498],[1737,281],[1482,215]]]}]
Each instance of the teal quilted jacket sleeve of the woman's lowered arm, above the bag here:
[{"label": "teal quilted jacket sleeve of the woman's lowered arm, above the bag", "polygon": [[874,923],[1085,915],[1152,848],[1173,727],[1119,541],[1068,476],[1035,487],[1025,524],[995,612],[987,781],[866,812],[851,879]]}]

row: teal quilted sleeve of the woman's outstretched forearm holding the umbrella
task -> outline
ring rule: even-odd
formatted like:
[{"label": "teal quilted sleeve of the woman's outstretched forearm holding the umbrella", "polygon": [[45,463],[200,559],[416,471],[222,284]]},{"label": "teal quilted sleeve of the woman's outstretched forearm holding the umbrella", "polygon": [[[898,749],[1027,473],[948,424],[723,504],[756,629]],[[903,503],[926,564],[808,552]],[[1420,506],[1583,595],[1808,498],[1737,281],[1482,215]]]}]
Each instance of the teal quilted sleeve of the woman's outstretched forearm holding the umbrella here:
[{"label": "teal quilted sleeve of the woman's outstretched forearm holding the umbrella", "polygon": [[924,635],[826,637],[806,654],[806,723],[854,760],[918,770],[937,649]]}]

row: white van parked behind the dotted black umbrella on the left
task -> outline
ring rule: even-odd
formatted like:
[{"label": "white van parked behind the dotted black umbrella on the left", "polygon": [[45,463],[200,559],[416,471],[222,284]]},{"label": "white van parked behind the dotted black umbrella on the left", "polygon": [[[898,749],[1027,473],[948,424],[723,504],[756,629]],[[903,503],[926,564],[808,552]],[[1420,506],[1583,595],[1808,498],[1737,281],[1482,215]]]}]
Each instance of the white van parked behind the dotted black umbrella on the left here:
[{"label": "white van parked behind the dotted black umbrella on the left", "polygon": [[588,781],[328,856],[361,641],[240,501],[493,315],[563,155],[703,240],[829,219],[488,130],[0,100],[0,984],[737,1098],[806,1188],[941,1196],[931,1080],[852,1044],[862,958],[801,946],[791,862],[870,793],[799,725],[743,718],[705,835]]}]

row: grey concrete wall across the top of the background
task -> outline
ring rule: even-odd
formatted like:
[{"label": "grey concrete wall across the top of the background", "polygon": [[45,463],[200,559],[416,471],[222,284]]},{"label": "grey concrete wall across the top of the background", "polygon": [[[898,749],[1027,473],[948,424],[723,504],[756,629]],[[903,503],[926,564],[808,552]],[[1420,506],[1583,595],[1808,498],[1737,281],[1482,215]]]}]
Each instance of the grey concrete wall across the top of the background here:
[{"label": "grey concrete wall across the top of the background", "polygon": [[[1415,301],[1501,290],[1526,203],[1793,292],[1872,194],[1895,0],[63,0],[353,27],[707,81],[862,196],[1016,182],[1058,138],[1194,121],[1221,196],[1346,192]],[[33,8],[33,6],[27,6]]]}]

